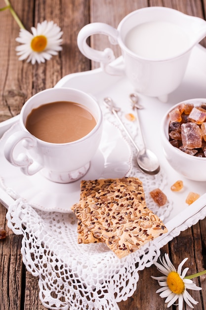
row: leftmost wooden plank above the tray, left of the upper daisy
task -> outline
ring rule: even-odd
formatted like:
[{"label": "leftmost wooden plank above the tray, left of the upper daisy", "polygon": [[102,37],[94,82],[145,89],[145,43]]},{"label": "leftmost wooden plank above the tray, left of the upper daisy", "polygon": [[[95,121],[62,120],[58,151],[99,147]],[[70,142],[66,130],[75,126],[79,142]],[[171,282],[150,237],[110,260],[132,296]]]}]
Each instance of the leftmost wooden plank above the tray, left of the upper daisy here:
[{"label": "leftmost wooden plank above the tray, left of the upper daisy", "polygon": [[[27,11],[28,3],[28,1],[13,3],[23,22],[22,12]],[[0,7],[3,6],[5,3],[1,0]],[[32,20],[32,11],[33,8],[31,8],[30,14],[28,12],[27,20]],[[28,90],[31,89],[31,85],[29,78],[24,79],[24,74],[22,74],[24,69],[28,73],[28,66],[25,64],[22,67],[15,52],[17,46],[15,38],[19,35],[19,26],[8,10],[0,12],[0,18],[1,29],[3,29],[0,33],[0,121],[3,121],[19,113],[25,99],[30,96]]]}]

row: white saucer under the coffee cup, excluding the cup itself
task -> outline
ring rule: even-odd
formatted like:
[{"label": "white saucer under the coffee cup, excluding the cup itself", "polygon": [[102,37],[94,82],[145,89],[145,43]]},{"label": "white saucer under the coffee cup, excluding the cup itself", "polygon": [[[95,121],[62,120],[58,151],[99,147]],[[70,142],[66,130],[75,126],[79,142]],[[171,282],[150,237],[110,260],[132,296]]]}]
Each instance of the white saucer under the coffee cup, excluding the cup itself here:
[{"label": "white saucer under the coffee cup, excluding the cup itself", "polygon": [[[24,175],[18,167],[12,166],[3,155],[6,139],[20,130],[15,123],[0,139],[0,181],[4,190],[13,198],[21,197],[32,207],[43,211],[70,212],[71,206],[80,199],[80,181],[60,184],[49,181],[41,172],[33,176]],[[19,146],[21,148],[21,146]],[[83,179],[120,178],[129,174],[132,167],[129,144],[121,131],[111,122],[104,120],[100,147],[90,163]]]}]

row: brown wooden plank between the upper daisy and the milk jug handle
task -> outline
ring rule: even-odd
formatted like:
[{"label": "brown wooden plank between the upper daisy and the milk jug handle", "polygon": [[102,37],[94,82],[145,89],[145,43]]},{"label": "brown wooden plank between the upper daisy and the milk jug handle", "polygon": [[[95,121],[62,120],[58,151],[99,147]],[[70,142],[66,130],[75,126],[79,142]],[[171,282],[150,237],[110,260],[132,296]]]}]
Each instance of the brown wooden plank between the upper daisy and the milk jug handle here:
[{"label": "brown wooden plank between the upper daisy and the milk jug handle", "polygon": [[[36,1],[35,25],[43,20],[53,20],[63,31],[63,50],[46,64],[34,66],[33,93],[53,87],[66,74],[90,69],[77,46],[77,34],[89,22],[89,1]],[[38,278],[26,272],[25,309],[44,310],[39,299]],[[30,308],[31,309],[31,308]]]}]

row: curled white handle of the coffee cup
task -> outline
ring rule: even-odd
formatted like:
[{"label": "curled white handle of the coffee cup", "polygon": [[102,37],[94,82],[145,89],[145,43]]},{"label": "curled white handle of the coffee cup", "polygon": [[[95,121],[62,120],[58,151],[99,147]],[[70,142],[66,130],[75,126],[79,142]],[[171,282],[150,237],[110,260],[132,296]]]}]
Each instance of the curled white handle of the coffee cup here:
[{"label": "curled white handle of the coffee cup", "polygon": [[42,169],[41,164],[24,153],[14,156],[15,147],[21,141],[23,147],[27,150],[35,149],[37,145],[37,139],[31,136],[31,134],[18,131],[7,139],[4,146],[4,156],[13,166],[20,167],[24,174],[33,175]]}]

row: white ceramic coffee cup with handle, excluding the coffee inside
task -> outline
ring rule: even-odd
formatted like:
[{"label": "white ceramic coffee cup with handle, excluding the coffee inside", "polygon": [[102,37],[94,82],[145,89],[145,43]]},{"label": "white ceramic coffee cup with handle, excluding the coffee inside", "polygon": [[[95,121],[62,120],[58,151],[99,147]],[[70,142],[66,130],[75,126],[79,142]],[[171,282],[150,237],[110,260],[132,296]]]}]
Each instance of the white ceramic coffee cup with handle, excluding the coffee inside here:
[{"label": "white ceramic coffee cup with handle, excluding the coffee inside", "polygon": [[[33,136],[25,127],[33,108],[53,102],[74,102],[87,109],[96,121],[95,127],[84,137],[69,143],[49,143]],[[4,155],[26,175],[41,170],[51,181],[70,183],[80,179],[88,170],[90,160],[96,153],[102,134],[102,112],[99,104],[88,94],[71,88],[50,88],[31,97],[20,112],[21,130],[6,141]],[[19,147],[21,145],[21,151]]]}]

